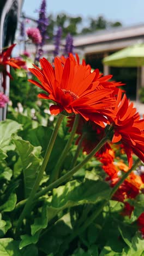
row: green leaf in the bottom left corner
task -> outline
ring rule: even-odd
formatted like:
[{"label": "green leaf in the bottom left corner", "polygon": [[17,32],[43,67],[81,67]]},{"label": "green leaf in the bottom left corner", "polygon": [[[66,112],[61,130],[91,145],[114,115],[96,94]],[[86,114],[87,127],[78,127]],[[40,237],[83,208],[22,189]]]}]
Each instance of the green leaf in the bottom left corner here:
[{"label": "green leaf in the bottom left corner", "polygon": [[14,241],[13,238],[0,239],[0,255],[1,256],[21,256],[19,250],[19,242]]}]

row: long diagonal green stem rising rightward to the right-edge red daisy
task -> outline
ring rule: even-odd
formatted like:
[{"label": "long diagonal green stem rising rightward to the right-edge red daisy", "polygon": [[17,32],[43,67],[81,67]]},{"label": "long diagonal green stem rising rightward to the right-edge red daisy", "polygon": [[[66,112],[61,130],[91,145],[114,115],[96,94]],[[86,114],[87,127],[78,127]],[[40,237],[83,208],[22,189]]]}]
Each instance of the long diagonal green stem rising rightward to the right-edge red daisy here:
[{"label": "long diagonal green stem rising rightward to the right-edge red daisy", "polygon": [[55,182],[51,183],[50,185],[48,185],[46,188],[44,188],[43,190],[39,191],[34,199],[38,199],[40,196],[45,195],[47,192],[49,192],[50,190],[52,190],[53,188],[56,188],[58,185],[62,184],[63,182],[67,181],[67,179],[71,178],[73,176],[73,174],[75,172],[77,172],[83,165],[85,165],[94,155],[95,153],[97,153],[101,147],[104,146],[104,144],[106,142],[110,141],[108,137],[104,137],[103,139],[101,139],[101,141],[99,142],[99,144],[97,145],[97,147],[95,147],[91,153],[89,153],[86,158],[80,162],[78,165],[76,165],[73,169],[71,169],[69,172],[67,172],[66,174],[64,174],[61,178],[57,179]]}]

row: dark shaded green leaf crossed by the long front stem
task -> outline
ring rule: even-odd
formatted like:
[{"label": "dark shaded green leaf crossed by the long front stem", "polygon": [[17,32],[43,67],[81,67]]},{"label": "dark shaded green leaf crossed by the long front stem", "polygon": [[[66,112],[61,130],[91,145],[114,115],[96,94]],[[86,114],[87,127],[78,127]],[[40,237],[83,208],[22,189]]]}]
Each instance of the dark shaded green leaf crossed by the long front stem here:
[{"label": "dark shaded green leaf crossed by the long front stem", "polygon": [[[41,155],[44,157],[51,135],[52,129],[45,126],[38,126],[36,129],[29,130],[25,139],[27,139],[33,146],[41,146]],[[52,149],[52,153],[50,155],[49,163],[47,165],[47,170],[49,172],[51,172],[55,167],[56,160],[58,156],[61,155],[66,143],[67,141],[57,136],[55,144]]]}]

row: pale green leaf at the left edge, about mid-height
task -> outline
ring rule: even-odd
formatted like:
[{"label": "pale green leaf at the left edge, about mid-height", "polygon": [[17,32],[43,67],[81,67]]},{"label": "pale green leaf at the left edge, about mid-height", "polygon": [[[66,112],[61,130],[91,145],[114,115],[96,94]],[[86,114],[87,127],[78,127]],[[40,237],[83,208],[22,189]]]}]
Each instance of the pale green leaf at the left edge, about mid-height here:
[{"label": "pale green leaf at the left edge, about mid-height", "polygon": [[22,125],[16,121],[7,119],[0,123],[0,147],[4,151],[13,150],[14,145],[11,144],[11,136],[18,130],[22,129]]}]

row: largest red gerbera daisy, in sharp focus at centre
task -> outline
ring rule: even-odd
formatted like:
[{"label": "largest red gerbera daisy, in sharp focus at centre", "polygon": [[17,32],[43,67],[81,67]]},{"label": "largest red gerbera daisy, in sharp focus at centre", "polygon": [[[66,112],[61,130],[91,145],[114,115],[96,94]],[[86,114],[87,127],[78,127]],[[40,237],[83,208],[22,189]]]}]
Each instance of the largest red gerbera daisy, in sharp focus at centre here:
[{"label": "largest red gerbera daisy, in sharp focus at centre", "polygon": [[29,70],[40,80],[40,83],[29,82],[45,90],[47,94],[39,97],[50,99],[56,103],[50,107],[51,114],[57,115],[65,110],[70,114],[81,114],[86,120],[104,125],[107,122],[104,116],[113,113],[115,98],[110,97],[112,90],[101,88],[96,90],[99,81],[94,81],[95,72],[89,73],[87,66],[67,58],[64,65],[56,57],[55,68],[45,58],[40,60],[41,69],[37,66]]}]

